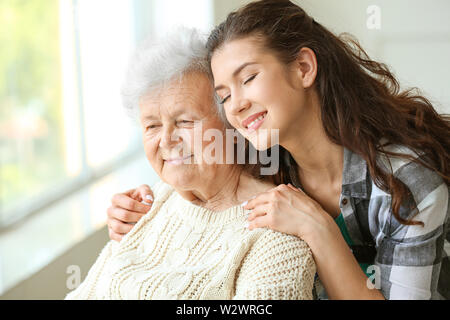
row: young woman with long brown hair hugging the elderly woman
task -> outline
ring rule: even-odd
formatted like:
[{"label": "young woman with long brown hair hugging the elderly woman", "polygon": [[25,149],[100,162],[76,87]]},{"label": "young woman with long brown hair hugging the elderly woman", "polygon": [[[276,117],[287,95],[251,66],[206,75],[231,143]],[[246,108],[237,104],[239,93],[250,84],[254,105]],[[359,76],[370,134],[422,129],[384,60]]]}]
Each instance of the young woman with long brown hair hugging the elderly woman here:
[{"label": "young woman with long brown hair hugging the elderly woman", "polygon": [[249,228],[308,243],[318,298],[448,298],[449,117],[289,1],[229,14],[207,47],[229,123],[257,149],[279,133],[279,186],[246,203]]}]

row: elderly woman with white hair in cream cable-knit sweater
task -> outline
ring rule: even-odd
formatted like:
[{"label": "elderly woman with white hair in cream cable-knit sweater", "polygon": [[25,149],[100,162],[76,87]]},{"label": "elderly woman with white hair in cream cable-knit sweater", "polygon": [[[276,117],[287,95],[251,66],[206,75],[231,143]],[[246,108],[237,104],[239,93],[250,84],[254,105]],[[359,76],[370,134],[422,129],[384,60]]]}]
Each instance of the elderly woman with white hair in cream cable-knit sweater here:
[{"label": "elderly woman with white hair in cream cable-knit sweater", "polygon": [[205,141],[195,147],[196,132],[225,132],[205,57],[204,41],[181,29],[132,60],[124,98],[139,110],[145,153],[162,181],[151,210],[107,243],[66,299],[312,299],[306,243],[246,228],[239,204],[274,186],[244,165],[202,161]]}]

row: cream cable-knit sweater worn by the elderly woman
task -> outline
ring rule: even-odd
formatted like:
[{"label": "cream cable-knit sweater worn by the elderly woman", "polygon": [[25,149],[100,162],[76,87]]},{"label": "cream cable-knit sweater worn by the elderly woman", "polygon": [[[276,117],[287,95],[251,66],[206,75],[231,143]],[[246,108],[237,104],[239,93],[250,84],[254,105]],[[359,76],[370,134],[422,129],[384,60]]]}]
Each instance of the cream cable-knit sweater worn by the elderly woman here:
[{"label": "cream cable-knit sweater worn by the elderly woman", "polygon": [[169,185],[120,243],[110,241],[66,299],[312,299],[312,253],[297,237],[245,228],[240,206],[214,212]]}]

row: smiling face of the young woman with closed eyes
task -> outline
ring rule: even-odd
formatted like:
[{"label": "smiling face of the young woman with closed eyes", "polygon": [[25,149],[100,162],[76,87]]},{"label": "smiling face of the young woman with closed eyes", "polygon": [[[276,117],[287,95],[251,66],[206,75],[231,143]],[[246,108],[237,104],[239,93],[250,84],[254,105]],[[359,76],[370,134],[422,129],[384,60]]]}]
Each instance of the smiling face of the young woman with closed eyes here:
[{"label": "smiling face of the young woman with closed eyes", "polygon": [[[284,138],[298,132],[305,94],[295,67],[247,37],[217,49],[211,68],[228,121],[256,149],[283,145]],[[273,133],[279,134],[279,141]]]}]

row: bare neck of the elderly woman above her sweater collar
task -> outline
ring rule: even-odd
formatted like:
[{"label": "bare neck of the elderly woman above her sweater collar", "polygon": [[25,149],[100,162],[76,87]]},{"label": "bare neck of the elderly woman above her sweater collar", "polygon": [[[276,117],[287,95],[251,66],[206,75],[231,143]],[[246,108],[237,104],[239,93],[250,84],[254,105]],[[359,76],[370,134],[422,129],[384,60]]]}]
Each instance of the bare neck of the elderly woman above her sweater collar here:
[{"label": "bare neck of the elderly woman above her sweater collar", "polygon": [[240,167],[222,174],[213,183],[205,183],[197,190],[179,192],[193,204],[213,210],[223,211],[241,204],[256,193],[268,190],[272,185],[262,183]]}]

